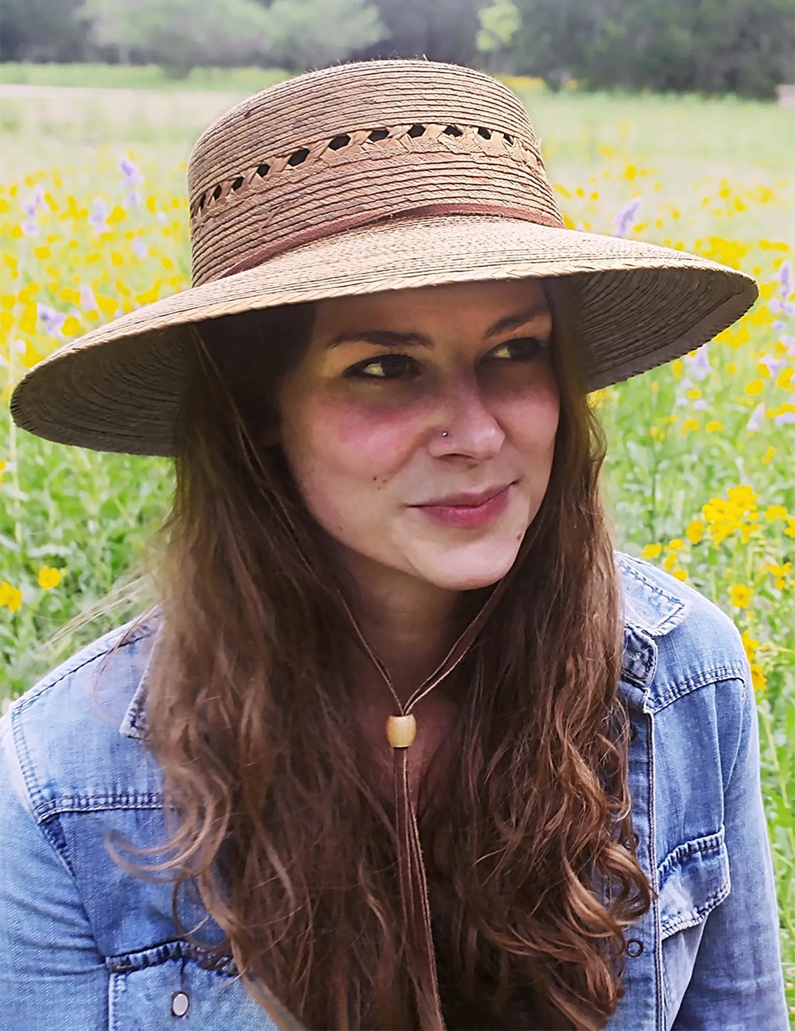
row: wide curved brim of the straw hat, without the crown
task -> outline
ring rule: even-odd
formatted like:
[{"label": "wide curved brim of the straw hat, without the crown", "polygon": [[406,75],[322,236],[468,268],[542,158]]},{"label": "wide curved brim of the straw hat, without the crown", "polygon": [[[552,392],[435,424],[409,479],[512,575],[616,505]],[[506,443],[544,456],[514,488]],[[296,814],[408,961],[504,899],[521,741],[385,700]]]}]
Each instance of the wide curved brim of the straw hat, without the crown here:
[{"label": "wide curved brim of the straw hat, without the crown", "polygon": [[11,414],[59,443],[172,455],[192,324],[385,290],[557,276],[572,277],[589,391],[700,346],[758,296],[743,272],[637,240],[501,217],[400,219],[286,251],[93,330],[28,372]]}]

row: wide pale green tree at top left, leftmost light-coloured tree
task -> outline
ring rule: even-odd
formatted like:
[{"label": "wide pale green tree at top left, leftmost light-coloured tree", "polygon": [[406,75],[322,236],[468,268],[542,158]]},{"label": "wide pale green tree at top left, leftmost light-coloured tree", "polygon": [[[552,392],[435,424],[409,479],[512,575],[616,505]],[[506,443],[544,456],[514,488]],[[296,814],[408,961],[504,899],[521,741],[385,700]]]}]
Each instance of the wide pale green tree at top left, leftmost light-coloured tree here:
[{"label": "wide pale green tree at top left, leftmost light-coloured tree", "polygon": [[96,43],[133,51],[174,75],[252,60],[270,45],[268,12],[254,0],[86,0],[77,16],[91,22]]}]

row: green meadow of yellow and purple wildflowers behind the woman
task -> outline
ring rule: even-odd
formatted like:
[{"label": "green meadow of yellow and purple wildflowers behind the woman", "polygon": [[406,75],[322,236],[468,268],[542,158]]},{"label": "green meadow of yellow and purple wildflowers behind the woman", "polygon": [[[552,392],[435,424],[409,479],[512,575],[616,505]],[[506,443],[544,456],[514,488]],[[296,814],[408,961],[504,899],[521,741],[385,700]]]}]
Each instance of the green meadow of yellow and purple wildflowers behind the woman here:
[{"label": "green meadow of yellow and purple wildflowers behind the woman", "polygon": [[[792,112],[761,104],[707,109],[695,99],[676,106],[640,98],[622,107],[511,85],[543,123],[570,226],[699,253],[760,285],[754,308],[714,341],[599,392],[593,403],[610,441],[605,493],[618,545],[715,600],[742,634],[795,1015],[795,180],[786,143],[776,152],[769,136],[758,146],[753,137],[755,127],[781,118],[786,138]],[[735,148],[709,136],[716,112],[742,127]],[[578,119],[577,133],[567,132],[564,115]],[[677,122],[689,153],[661,130]],[[84,148],[80,157],[92,158],[82,167],[56,139],[49,163],[0,185],[6,702],[141,604],[134,577],[168,501],[168,464],[38,440],[14,430],[5,401],[24,371],[61,342],[188,285],[185,168],[168,142]],[[75,623],[87,610],[93,620]]]}]

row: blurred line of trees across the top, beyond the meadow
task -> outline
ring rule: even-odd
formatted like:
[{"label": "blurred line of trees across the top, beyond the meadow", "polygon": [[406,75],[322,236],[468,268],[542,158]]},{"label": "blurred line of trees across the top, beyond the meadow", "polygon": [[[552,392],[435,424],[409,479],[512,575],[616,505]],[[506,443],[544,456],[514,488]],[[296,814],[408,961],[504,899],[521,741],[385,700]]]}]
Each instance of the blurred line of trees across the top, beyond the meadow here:
[{"label": "blurred line of trees across the top, beyond the meadow", "polygon": [[792,0],[2,0],[0,60],[304,70],[413,57],[553,89],[772,97],[795,78]]}]

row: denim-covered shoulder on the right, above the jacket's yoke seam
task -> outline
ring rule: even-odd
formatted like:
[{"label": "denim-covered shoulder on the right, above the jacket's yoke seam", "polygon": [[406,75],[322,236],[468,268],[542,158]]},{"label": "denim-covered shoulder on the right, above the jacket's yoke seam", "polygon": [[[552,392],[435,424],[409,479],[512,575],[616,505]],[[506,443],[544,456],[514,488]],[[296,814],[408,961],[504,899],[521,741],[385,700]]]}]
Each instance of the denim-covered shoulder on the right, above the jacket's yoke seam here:
[{"label": "denim-covered shoulder on the right, above the jacket's yoke seam", "polygon": [[[626,635],[654,645],[649,702],[660,708],[698,688],[748,678],[734,623],[715,602],[642,559],[616,553]],[[739,692],[741,693],[741,691]]]}]

